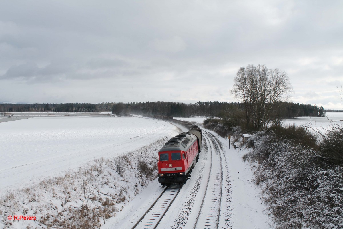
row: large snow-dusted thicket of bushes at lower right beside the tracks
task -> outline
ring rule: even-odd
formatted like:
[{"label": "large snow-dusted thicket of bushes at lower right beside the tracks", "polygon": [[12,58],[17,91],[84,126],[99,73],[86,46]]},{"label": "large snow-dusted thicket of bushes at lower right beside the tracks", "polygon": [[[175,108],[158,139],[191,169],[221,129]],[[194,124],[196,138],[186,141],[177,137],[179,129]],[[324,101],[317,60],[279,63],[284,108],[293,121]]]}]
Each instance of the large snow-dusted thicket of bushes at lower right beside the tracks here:
[{"label": "large snow-dusted thicket of bushes at lower right beside the tracks", "polygon": [[343,228],[343,168],[329,163],[304,130],[260,131],[246,143],[252,149],[244,159],[255,165],[276,228]]}]

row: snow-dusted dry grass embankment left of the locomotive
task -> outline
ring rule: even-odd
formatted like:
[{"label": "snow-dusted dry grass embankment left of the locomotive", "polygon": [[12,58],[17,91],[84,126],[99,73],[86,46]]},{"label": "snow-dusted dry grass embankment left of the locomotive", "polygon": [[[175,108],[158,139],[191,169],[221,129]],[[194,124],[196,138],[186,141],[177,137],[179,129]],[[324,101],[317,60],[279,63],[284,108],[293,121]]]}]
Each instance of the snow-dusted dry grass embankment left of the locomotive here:
[{"label": "snow-dusted dry grass embankment left of the locomotive", "polygon": [[[129,179],[136,175],[134,165],[138,158],[150,158],[150,163],[157,161],[156,151],[166,140],[164,138],[129,152],[125,157],[128,167],[121,175],[113,166],[115,158],[98,158],[77,171],[69,171],[31,187],[8,192],[0,197],[0,215],[4,216],[4,228],[13,226],[13,221],[7,220],[7,216],[14,214],[36,216],[38,228],[99,228],[104,220],[115,216],[126,202],[140,192],[138,181]],[[151,164],[147,166],[156,170]],[[146,183],[153,176],[147,178]],[[30,220],[22,223],[23,227],[34,226]]]}]

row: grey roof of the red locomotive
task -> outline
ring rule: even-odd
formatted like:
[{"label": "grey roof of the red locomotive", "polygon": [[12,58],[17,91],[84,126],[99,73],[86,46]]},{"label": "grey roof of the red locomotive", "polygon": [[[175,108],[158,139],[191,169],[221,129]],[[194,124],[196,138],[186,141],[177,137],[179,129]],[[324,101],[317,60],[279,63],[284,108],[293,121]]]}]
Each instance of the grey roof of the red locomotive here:
[{"label": "grey roof of the red locomotive", "polygon": [[181,150],[186,151],[197,140],[197,137],[188,132],[181,133],[174,138],[170,138],[166,144],[159,150],[159,152],[164,151],[174,151]]}]

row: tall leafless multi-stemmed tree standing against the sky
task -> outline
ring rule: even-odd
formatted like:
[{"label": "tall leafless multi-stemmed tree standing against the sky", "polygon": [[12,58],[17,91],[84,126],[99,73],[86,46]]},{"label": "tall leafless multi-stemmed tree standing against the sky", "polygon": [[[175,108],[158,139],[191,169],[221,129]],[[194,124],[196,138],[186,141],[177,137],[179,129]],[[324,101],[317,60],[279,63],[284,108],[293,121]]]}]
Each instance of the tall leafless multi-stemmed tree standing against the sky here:
[{"label": "tall leafless multi-stemmed tree standing against the sky", "polygon": [[247,125],[257,130],[270,121],[270,111],[276,101],[285,101],[292,85],[285,71],[268,69],[264,65],[240,68],[231,93],[245,105]]}]

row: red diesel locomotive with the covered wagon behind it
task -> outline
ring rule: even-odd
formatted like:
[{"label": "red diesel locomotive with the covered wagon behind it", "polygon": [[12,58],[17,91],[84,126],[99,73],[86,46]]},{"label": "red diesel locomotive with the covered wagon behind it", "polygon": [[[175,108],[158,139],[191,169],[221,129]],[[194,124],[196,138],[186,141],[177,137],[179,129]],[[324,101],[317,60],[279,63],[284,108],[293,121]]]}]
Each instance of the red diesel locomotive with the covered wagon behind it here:
[{"label": "red diesel locomotive with the covered wagon behind it", "polygon": [[164,185],[186,183],[199,159],[202,133],[198,126],[181,133],[158,151],[158,181]]}]

